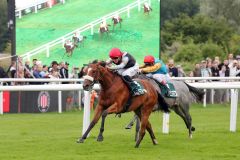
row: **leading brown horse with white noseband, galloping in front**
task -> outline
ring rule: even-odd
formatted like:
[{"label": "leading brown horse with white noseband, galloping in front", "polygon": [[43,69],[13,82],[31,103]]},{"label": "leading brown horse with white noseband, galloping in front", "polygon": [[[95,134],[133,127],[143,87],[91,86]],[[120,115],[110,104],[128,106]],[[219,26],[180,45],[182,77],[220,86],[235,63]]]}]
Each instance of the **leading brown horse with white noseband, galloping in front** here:
[{"label": "leading brown horse with white noseband, galloping in front", "polygon": [[[140,96],[131,97],[128,87],[122,78],[116,73],[113,73],[107,69],[105,65],[105,62],[89,64],[87,74],[84,76],[84,90],[91,90],[94,83],[97,81],[101,85],[101,90],[99,95],[99,102],[95,109],[93,120],[90,123],[87,131],[81,138],[79,138],[77,142],[84,142],[84,140],[87,138],[88,133],[95,126],[101,116],[102,124],[97,139],[98,141],[103,140],[104,122],[108,114],[119,114],[134,111],[141,122],[141,127],[138,132],[138,138],[135,147],[139,147],[145,135],[146,129],[150,134],[153,144],[156,145],[157,140],[148,119],[153,111],[153,108],[156,107],[160,95],[157,94],[155,88],[149,83],[149,81],[136,79],[143,85],[146,93]],[[157,107],[160,109],[160,106]],[[168,108],[165,108],[165,111],[169,111]]]}]

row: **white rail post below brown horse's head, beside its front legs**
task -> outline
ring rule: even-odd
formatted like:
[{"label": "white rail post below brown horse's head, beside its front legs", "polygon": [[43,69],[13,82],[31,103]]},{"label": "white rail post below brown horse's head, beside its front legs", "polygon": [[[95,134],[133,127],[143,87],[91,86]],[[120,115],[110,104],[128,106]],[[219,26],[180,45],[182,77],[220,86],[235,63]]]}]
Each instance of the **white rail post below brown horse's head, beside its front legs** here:
[{"label": "white rail post below brown horse's head, beside its front legs", "polygon": [[83,111],[83,129],[82,135],[90,125],[90,92],[84,91],[84,111]]}]

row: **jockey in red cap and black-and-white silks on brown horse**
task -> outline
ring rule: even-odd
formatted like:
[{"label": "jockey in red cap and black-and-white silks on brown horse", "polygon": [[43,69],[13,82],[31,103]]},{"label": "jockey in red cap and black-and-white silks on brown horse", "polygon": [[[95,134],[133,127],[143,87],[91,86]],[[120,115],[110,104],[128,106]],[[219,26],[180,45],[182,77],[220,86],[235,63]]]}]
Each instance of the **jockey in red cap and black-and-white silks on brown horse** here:
[{"label": "jockey in red cap and black-and-white silks on brown horse", "polygon": [[112,48],[109,52],[110,59],[107,64],[114,63],[115,66],[108,66],[111,70],[116,70],[119,75],[122,76],[123,80],[126,82],[128,88],[130,88],[132,95],[142,95],[144,90],[141,86],[132,80],[131,77],[137,74],[139,69],[136,60],[127,52],[121,52],[119,48]]}]

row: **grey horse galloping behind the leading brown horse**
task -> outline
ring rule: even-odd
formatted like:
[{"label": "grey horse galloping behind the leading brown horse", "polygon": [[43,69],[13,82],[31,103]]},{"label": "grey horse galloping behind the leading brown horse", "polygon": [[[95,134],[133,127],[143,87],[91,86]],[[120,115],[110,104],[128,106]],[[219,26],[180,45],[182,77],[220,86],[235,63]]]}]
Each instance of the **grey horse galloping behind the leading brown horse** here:
[{"label": "grey horse galloping behind the leading brown horse", "polygon": [[[159,87],[159,83],[153,79],[150,79],[144,75],[139,75],[140,79],[149,79],[151,84],[155,87],[158,93],[161,93],[161,89]],[[200,102],[203,99],[204,91],[197,89],[188,85],[183,81],[170,81],[178,94],[176,98],[164,97],[164,102],[170,107],[170,109],[174,110],[176,114],[178,114],[185,122],[186,127],[188,129],[189,137],[192,138],[192,131],[195,131],[195,128],[192,126],[192,118],[189,113],[189,107],[192,102]],[[134,121],[134,120],[133,120]],[[130,122],[133,123],[133,122]],[[137,123],[138,124],[138,123]],[[139,128],[138,126],[136,128]]]}]

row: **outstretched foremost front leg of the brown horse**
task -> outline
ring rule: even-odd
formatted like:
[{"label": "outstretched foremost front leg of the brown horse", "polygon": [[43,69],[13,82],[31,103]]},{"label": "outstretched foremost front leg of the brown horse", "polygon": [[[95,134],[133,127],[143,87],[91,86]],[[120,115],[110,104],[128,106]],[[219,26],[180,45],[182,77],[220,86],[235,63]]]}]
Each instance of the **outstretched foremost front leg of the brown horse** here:
[{"label": "outstretched foremost front leg of the brown horse", "polygon": [[95,115],[93,117],[92,122],[90,123],[90,125],[88,126],[88,129],[85,131],[85,133],[83,134],[83,136],[81,138],[79,138],[77,140],[77,143],[83,143],[84,140],[87,138],[87,135],[89,134],[89,132],[91,131],[91,129],[95,126],[95,124],[98,122],[99,118],[101,117],[101,114],[103,112],[103,107],[102,106],[97,106],[95,109]]}]

